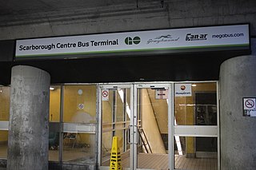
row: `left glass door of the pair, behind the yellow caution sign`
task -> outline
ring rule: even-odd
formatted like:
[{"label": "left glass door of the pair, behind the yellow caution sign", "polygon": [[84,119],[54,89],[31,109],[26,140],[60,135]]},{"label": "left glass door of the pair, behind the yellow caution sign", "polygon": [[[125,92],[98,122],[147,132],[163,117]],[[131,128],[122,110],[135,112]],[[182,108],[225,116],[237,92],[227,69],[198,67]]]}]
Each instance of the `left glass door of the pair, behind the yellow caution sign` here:
[{"label": "left glass door of the pair, behind the yellow caution sign", "polygon": [[118,148],[122,157],[122,168],[130,168],[133,160],[130,129],[133,128],[133,86],[132,85],[100,85],[98,96],[99,109],[99,164],[103,169],[112,163],[112,139],[118,137]]}]

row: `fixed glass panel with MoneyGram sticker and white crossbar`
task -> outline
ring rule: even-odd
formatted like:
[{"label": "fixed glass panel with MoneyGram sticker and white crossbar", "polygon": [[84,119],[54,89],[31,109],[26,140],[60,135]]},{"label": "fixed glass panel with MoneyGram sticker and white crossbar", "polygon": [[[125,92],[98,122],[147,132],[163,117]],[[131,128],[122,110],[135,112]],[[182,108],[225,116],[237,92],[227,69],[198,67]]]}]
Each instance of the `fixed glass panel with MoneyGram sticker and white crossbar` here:
[{"label": "fixed glass panel with MoneyGram sticker and white crossbar", "polygon": [[[180,95],[184,89],[190,95]],[[175,84],[175,169],[218,169],[217,92],[216,82]]]}]

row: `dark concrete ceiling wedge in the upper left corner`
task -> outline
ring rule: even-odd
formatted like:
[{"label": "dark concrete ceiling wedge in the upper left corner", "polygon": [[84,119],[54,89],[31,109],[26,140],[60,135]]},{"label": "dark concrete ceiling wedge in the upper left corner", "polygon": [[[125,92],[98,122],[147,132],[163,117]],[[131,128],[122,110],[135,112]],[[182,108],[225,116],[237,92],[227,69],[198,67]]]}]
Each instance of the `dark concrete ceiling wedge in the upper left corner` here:
[{"label": "dark concrete ceiling wedge in the upper left corner", "polygon": [[[160,0],[159,0],[160,1]],[[156,0],[8,0],[0,1],[0,18],[20,18],[41,13],[66,13],[67,11],[95,9],[103,6],[118,6]]]}]

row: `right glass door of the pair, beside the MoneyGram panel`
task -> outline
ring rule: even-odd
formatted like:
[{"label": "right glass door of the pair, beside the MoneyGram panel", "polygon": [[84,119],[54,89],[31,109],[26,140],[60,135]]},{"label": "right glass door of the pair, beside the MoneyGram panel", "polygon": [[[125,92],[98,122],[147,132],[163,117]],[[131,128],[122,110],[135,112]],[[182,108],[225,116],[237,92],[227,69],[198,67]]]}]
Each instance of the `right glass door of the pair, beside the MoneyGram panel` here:
[{"label": "right glass door of the pair, beside the MoneyGram panel", "polygon": [[135,85],[134,98],[134,169],[173,169],[170,84]]}]

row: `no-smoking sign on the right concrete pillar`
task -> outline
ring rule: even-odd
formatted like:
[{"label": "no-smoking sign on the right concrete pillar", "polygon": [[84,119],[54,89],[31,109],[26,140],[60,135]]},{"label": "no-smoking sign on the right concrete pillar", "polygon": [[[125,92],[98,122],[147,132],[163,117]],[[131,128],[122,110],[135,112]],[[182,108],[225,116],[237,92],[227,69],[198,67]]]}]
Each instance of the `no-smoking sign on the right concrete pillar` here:
[{"label": "no-smoking sign on the right concrete pillar", "polygon": [[256,117],[256,97],[243,97],[242,108],[244,117]]}]

